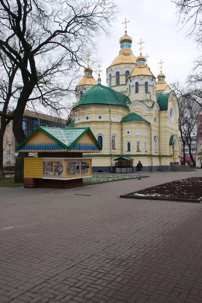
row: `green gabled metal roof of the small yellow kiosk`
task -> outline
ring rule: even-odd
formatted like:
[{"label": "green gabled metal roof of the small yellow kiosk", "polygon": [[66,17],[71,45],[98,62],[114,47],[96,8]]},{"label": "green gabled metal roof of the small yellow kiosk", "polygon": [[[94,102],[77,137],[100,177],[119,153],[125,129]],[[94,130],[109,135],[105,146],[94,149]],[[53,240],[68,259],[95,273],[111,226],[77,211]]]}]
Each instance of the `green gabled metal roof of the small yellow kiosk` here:
[{"label": "green gabled metal roof of the small yellow kiosk", "polygon": [[101,150],[97,139],[92,133],[90,127],[74,127],[74,128],[56,128],[56,127],[37,127],[22,143],[17,146],[17,149],[23,149],[23,145],[38,131],[41,130],[43,133],[51,137],[61,146],[66,149],[70,149],[79,139],[88,131],[91,133],[93,139],[95,140],[96,145]]}]

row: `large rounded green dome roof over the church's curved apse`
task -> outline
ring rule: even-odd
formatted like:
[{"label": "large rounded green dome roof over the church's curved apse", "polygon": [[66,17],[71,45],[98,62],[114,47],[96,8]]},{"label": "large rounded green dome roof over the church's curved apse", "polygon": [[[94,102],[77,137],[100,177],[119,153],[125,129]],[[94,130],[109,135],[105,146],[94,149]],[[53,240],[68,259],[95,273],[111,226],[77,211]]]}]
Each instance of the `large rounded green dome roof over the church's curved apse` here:
[{"label": "large rounded green dome roof over the church's curved apse", "polygon": [[98,84],[89,89],[74,108],[89,105],[114,105],[128,108],[128,103],[131,103],[129,97]]}]

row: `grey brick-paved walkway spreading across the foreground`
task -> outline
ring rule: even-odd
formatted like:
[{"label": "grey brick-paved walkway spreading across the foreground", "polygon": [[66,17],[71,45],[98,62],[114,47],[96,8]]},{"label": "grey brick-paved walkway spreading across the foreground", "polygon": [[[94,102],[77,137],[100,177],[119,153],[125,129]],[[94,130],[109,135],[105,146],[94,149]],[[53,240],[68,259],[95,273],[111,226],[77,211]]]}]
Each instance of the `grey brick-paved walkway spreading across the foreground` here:
[{"label": "grey brick-paved walkway spreading across the foreground", "polygon": [[202,204],[117,197],[174,178],[0,188],[0,302],[202,302]]}]

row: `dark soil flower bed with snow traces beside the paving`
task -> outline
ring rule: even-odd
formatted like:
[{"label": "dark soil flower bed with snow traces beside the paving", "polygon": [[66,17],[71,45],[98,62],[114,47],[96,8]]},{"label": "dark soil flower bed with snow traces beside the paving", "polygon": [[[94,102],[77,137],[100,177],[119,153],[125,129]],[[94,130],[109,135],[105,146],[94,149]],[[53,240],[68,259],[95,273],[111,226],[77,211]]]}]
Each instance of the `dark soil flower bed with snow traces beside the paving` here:
[{"label": "dark soil flower bed with snow traces beside the paving", "polygon": [[193,177],[172,181],[120,197],[199,202],[202,201],[202,178]]}]

